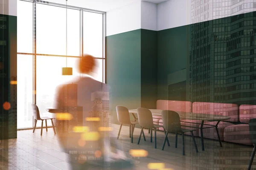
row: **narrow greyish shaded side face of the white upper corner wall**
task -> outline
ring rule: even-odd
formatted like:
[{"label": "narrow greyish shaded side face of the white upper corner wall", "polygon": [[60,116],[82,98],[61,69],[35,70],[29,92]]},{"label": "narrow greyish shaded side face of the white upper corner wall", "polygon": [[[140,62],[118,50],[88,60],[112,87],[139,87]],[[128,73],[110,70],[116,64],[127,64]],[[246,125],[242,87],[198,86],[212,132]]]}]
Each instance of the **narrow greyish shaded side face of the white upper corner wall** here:
[{"label": "narrow greyish shaded side face of the white upper corner wall", "polygon": [[141,28],[157,31],[157,4],[141,1]]}]

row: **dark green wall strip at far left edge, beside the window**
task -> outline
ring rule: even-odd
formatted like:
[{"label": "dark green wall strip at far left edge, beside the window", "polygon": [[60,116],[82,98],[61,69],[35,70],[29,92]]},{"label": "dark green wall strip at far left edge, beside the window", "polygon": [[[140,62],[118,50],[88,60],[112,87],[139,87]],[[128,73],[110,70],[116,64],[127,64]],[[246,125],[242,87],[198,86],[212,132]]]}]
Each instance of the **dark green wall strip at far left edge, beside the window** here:
[{"label": "dark green wall strip at far left edge, beside the window", "polygon": [[[0,14],[0,139],[17,138],[17,85],[10,80],[17,78],[17,17]],[[9,102],[10,109],[3,109]]]}]

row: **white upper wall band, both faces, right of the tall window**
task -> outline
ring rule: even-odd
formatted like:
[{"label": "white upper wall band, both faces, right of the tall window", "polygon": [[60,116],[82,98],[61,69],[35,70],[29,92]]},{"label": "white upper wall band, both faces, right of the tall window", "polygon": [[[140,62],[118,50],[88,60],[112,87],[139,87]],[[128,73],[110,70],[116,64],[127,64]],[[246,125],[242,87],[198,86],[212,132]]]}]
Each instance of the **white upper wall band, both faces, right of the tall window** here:
[{"label": "white upper wall band, both faces, right of the tall window", "polygon": [[107,36],[140,28],[157,31],[157,4],[134,1],[130,5],[108,11],[106,20]]}]

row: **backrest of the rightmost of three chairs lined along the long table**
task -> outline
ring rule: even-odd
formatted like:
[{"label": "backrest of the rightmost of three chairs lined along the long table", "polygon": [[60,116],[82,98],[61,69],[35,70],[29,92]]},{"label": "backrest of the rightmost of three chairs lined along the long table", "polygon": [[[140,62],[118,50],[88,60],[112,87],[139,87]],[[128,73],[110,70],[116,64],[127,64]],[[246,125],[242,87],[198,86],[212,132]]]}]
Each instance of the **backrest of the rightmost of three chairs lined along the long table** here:
[{"label": "backrest of the rightmost of three chairs lined along the long table", "polygon": [[168,132],[180,133],[180,116],[175,111],[162,111],[163,127]]}]

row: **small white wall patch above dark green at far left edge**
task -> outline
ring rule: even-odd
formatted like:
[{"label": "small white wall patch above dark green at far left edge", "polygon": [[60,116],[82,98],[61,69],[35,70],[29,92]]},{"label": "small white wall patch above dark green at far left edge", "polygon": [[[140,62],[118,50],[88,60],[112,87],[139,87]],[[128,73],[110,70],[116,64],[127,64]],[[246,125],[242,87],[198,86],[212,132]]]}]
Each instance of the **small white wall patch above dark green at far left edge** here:
[{"label": "small white wall patch above dark green at far left edge", "polygon": [[17,16],[17,0],[0,0],[0,14]]}]

